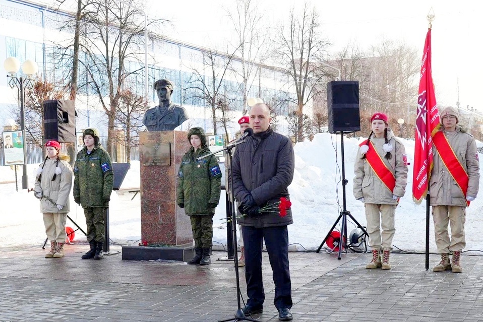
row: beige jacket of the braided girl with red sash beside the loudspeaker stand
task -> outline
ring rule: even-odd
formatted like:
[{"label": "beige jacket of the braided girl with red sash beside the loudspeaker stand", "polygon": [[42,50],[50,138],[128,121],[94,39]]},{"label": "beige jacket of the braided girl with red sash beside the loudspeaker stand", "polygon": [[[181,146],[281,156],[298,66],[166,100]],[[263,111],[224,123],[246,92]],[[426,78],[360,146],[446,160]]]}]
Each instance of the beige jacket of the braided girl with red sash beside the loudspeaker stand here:
[{"label": "beige jacket of the braided girl with red sash beside the loudspeaker stand", "polygon": [[392,196],[404,196],[407,184],[407,165],[404,165],[403,161],[403,154],[406,153],[404,146],[394,138],[392,131],[389,131],[388,142],[393,146],[393,149],[391,151],[392,158],[388,160],[385,158],[386,152],[383,150],[384,138],[371,137],[371,142],[388,169],[394,174],[396,185],[394,191],[389,191],[373,171],[367,159],[362,159],[364,155],[360,153],[359,147],[354,163],[354,197],[355,199],[364,198],[365,204],[397,205],[397,200],[393,200]]}]

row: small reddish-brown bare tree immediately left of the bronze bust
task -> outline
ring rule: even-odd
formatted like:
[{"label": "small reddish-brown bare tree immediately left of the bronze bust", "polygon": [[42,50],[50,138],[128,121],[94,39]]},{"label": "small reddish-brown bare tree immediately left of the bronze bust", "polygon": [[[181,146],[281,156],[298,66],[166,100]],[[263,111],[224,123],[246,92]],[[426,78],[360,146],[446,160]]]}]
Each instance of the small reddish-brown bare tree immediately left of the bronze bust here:
[{"label": "small reddish-brown bare tree immediately left of the bronze bust", "polygon": [[143,126],[143,116],[148,109],[148,102],[146,102],[143,96],[127,89],[120,92],[118,104],[115,116],[116,127],[123,128],[126,133],[125,141],[122,144],[126,147],[126,158],[127,162],[130,163],[131,148],[139,144],[139,142],[133,142],[132,138],[139,136]]}]

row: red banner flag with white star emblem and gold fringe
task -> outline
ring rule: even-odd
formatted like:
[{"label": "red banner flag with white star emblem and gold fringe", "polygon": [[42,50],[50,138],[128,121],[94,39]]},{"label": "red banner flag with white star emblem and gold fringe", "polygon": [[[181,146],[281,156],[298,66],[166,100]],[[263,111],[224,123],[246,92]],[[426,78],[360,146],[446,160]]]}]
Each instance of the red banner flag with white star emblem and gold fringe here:
[{"label": "red banner flag with white star emblem and gold fringe", "polygon": [[440,119],[431,74],[431,28],[426,35],[421,60],[419,95],[417,97],[416,134],[414,146],[414,170],[412,198],[420,204],[428,193],[428,184],[433,169],[433,136],[438,131]]}]

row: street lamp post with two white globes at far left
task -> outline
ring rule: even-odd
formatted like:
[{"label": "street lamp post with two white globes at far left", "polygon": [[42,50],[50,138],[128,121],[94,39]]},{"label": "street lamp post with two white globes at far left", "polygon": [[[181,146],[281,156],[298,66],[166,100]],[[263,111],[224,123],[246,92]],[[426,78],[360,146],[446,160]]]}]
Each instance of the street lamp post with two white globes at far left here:
[{"label": "street lamp post with two white globes at far left", "polygon": [[7,78],[10,78],[9,85],[11,88],[17,87],[20,90],[20,130],[22,131],[23,138],[23,151],[24,151],[24,165],[22,167],[22,189],[28,187],[27,176],[27,146],[25,136],[25,88],[32,87],[32,81],[37,74],[38,66],[33,60],[26,60],[22,64],[22,72],[27,78],[17,77],[17,72],[20,69],[20,61],[15,57],[8,57],[4,61],[4,68],[9,73]]}]

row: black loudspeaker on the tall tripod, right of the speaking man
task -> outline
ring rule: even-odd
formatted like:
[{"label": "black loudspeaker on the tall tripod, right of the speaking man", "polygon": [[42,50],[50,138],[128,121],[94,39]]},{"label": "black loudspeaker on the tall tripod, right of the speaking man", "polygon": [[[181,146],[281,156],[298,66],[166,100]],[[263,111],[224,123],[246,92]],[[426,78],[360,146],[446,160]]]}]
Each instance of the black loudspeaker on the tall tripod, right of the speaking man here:
[{"label": "black loudspeaker on the tall tripod, right of the speaking man", "polygon": [[360,131],[359,82],[327,83],[327,108],[330,133]]}]

